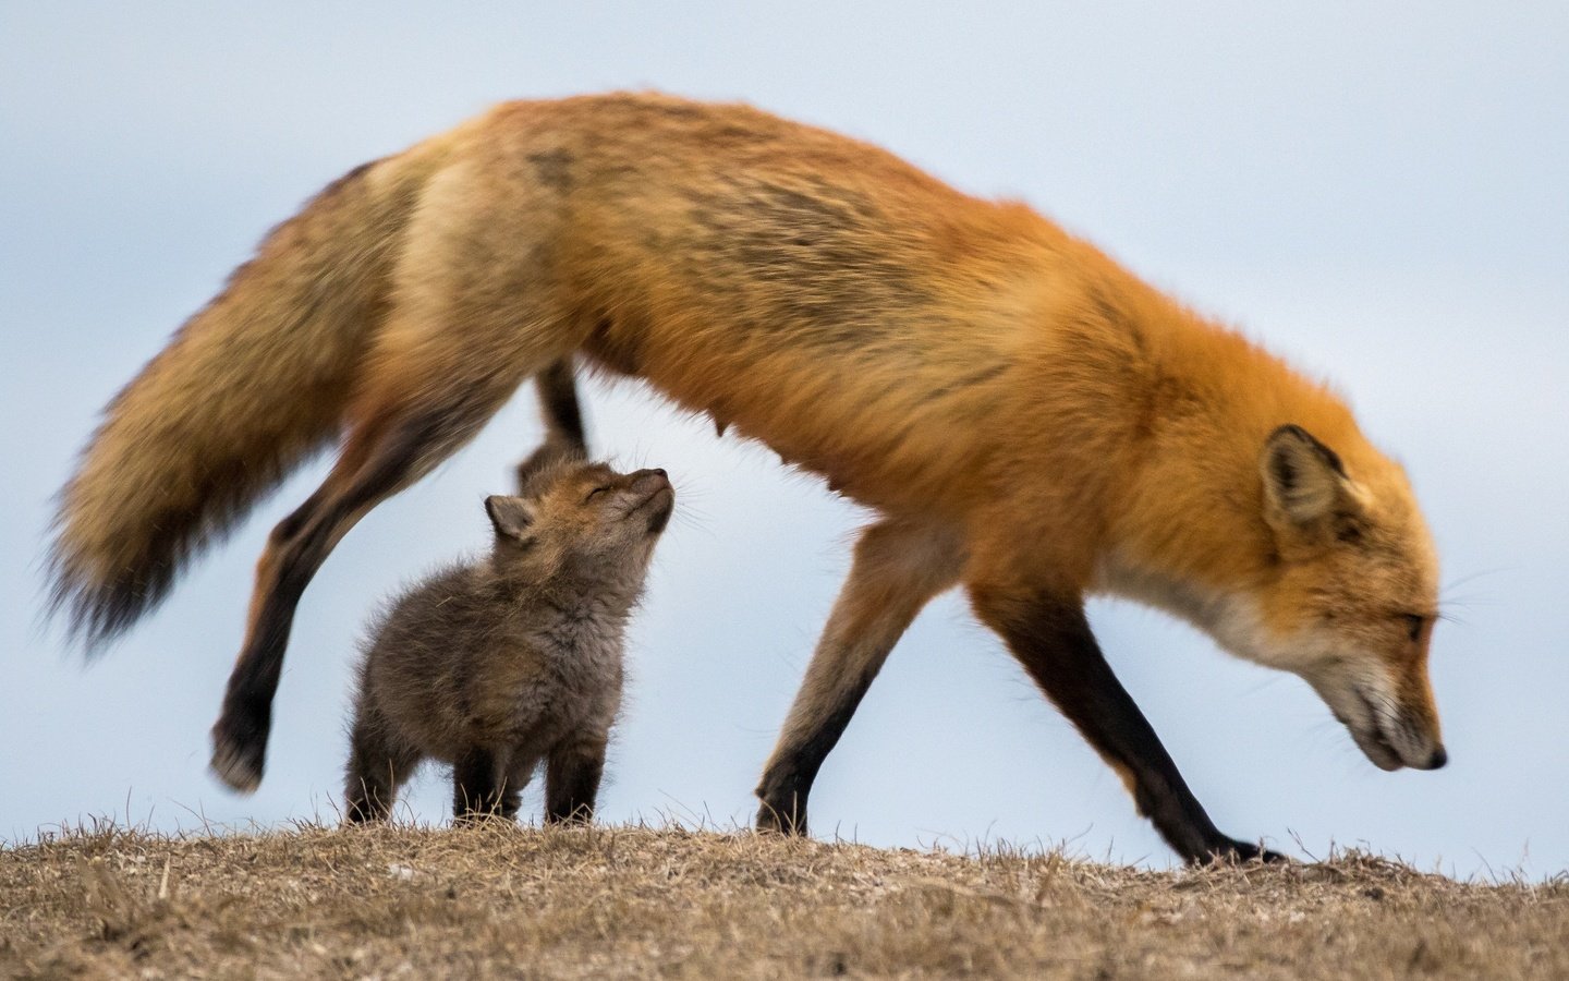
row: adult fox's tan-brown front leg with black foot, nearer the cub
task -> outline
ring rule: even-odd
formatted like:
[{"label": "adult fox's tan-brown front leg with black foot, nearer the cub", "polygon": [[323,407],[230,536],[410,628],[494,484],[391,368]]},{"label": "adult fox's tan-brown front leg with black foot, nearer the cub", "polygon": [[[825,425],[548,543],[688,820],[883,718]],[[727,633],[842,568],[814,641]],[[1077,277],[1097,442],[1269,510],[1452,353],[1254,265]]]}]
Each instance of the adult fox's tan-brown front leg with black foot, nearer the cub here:
[{"label": "adult fox's tan-brown front leg with black foot, nearer the cub", "polygon": [[921,607],[959,581],[954,532],[882,521],[861,532],[855,562],[822,631],[784,731],[758,785],[758,830],[806,833],[806,794],[888,651]]}]

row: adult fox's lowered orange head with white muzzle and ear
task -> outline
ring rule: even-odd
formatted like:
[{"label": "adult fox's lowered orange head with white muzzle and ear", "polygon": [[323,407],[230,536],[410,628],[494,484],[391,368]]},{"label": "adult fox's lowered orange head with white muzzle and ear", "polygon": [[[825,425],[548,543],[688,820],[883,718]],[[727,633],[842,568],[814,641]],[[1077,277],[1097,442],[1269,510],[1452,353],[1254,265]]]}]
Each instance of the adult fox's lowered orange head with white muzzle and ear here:
[{"label": "adult fox's lowered orange head with white muzzle and ear", "polygon": [[1298,425],[1269,435],[1258,474],[1274,551],[1227,642],[1307,680],[1379,768],[1437,769],[1437,559],[1404,472],[1356,449],[1341,460]]}]

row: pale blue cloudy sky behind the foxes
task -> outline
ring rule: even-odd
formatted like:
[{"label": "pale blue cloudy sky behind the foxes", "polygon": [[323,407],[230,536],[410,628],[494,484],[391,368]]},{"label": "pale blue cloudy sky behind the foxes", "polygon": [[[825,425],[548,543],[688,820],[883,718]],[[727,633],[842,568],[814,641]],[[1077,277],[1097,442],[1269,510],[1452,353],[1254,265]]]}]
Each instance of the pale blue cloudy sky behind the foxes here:
[{"label": "pale blue cloudy sky behind the foxes", "polygon": [[[499,99],[651,86],[745,99],[1025,198],[1331,377],[1409,466],[1456,584],[1432,661],[1450,766],[1376,771],[1305,684],[1159,614],[1097,604],[1108,656],[1232,835],[1461,874],[1569,866],[1564,6],[458,8],[0,8],[0,838],[127,807],[158,827],[331,815],[359,625],[485,543],[480,499],[533,444],[532,400],[326,563],[254,797],[207,777],[207,727],[260,542],[320,465],[89,669],[38,626],[49,498],[99,408],[320,185]],[[748,821],[865,515],[634,388],[588,400],[596,447],[665,466],[681,491],[602,815]],[[424,819],[446,799],[435,772],[410,796]],[[1067,840],[1172,860],[957,596],[894,651],[813,821],[874,844]]]}]

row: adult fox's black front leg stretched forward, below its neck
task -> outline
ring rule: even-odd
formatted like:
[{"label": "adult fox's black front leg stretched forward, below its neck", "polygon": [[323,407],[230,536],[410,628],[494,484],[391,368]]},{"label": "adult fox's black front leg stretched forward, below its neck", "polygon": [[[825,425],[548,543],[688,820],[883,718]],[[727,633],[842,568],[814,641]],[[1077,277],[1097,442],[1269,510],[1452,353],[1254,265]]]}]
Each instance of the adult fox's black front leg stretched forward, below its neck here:
[{"label": "adult fox's black front leg stretched forward, below its neck", "polygon": [[1101,656],[1083,600],[1050,593],[1021,596],[976,585],[970,595],[981,620],[1003,636],[1036,684],[1117,771],[1139,813],[1177,854],[1189,863],[1282,859],[1214,827],[1144,713]]}]

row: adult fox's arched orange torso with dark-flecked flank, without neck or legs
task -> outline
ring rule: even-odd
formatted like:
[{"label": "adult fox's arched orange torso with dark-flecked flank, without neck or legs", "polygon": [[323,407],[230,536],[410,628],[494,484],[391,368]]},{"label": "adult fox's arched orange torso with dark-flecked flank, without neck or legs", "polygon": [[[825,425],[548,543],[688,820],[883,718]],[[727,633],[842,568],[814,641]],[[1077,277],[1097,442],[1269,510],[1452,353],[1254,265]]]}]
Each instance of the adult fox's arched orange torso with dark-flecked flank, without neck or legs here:
[{"label": "adult fox's arched orange torso with dark-flecked flank, without neck or legs", "polygon": [[879,507],[962,512],[1036,314],[1120,273],[1023,206],[744,105],[518,102],[446,140],[491,215],[513,193],[543,223],[596,364]]}]

